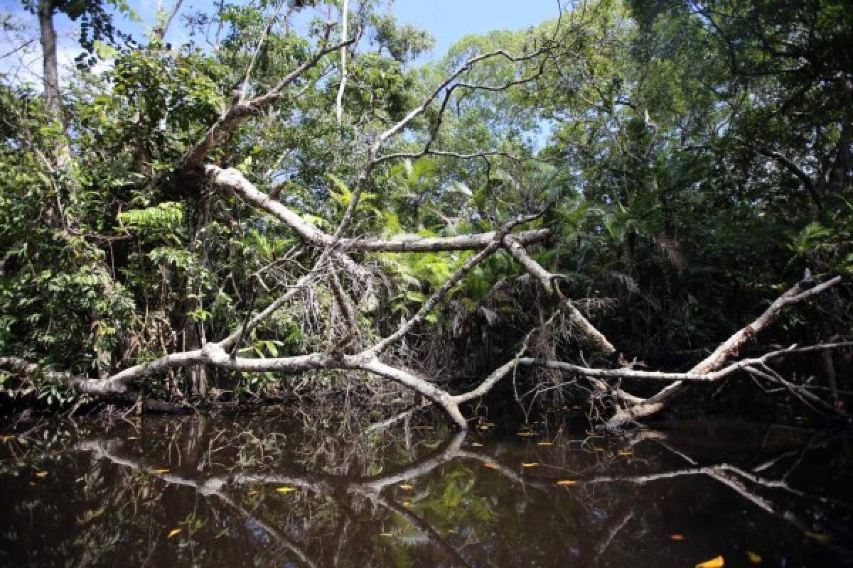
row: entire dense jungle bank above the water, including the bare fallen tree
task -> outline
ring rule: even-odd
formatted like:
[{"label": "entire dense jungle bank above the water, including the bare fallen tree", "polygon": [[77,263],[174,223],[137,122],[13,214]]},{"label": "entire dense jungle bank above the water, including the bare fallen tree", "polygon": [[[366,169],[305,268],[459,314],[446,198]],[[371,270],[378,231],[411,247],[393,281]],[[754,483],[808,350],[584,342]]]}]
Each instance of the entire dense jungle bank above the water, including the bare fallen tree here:
[{"label": "entire dense jungle bank above the water, including the bare fallen tree", "polygon": [[23,7],[3,404],[434,402],[464,426],[518,400],[620,426],[714,382],[693,398],[846,416],[841,0],[555,3],[427,63],[377,0],[178,2],[144,35],[118,0]]}]

